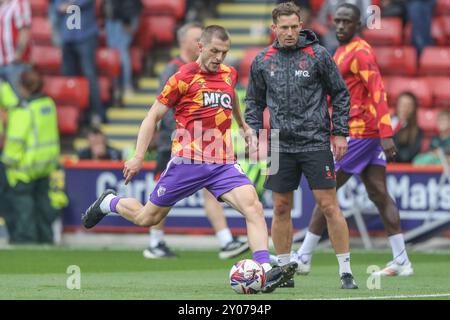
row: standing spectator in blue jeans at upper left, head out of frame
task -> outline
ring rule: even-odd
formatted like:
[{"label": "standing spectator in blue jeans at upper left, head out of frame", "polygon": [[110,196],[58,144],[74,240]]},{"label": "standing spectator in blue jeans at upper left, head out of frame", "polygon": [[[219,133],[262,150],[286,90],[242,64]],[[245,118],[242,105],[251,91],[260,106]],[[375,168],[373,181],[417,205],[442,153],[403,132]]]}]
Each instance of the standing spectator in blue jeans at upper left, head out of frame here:
[{"label": "standing spectator in blue jeans at upper left, head out of frame", "polygon": [[[66,76],[83,75],[89,81],[90,117],[92,125],[98,126],[106,121],[106,112],[100,99],[97,81],[95,51],[98,44],[98,29],[95,20],[95,0],[55,0],[60,15],[60,32],[62,41],[62,73]],[[71,5],[80,8],[80,26],[73,22],[69,10]],[[79,27],[79,28],[78,28]],[[81,68],[81,73],[79,72]]]}]

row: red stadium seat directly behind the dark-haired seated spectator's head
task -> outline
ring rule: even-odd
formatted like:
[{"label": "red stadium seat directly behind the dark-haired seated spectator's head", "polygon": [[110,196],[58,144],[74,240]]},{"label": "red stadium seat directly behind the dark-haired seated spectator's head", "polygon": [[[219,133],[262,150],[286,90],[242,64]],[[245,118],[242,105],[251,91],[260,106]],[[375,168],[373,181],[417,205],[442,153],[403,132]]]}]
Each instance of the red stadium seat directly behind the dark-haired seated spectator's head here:
[{"label": "red stadium seat directly behind the dark-haired seated spectator's head", "polygon": [[384,85],[388,103],[391,107],[395,107],[398,96],[405,91],[409,91],[417,97],[420,107],[432,107],[433,96],[431,90],[427,81],[422,78],[385,77]]}]

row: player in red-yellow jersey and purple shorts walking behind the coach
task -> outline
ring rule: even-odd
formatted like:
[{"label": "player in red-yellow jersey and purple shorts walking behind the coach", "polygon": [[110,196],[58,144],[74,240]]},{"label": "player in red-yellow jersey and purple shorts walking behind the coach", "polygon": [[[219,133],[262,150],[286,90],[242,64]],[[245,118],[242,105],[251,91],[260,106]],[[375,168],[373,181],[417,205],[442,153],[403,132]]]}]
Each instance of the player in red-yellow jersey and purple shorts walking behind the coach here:
[{"label": "player in red-yellow jersey and purple shorts walking behind the coach", "polygon": [[[409,276],[413,269],[401,233],[400,215],[386,187],[386,157],[393,160],[397,151],[375,55],[369,44],[356,35],[361,26],[360,15],[358,7],[352,4],[342,4],[334,15],[336,37],[341,44],[334,59],[349,88],[352,106],[348,151],[336,163],[337,188],[353,174],[360,175],[370,200],[380,212],[392,247],[393,260],[375,275]],[[299,263],[300,274],[308,274],[313,250],[325,227],[325,218],[316,208],[305,240],[293,257]]]}]

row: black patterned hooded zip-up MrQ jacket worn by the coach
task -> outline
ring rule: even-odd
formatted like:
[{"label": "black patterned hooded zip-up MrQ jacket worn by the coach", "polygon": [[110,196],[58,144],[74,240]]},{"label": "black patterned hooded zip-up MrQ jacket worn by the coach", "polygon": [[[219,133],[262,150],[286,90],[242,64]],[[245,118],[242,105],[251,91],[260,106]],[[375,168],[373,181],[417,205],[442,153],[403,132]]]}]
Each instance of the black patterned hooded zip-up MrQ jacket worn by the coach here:
[{"label": "black patterned hooded zip-up MrQ jacket worn by the coach", "polygon": [[[327,95],[333,107],[331,132]],[[279,129],[279,152],[330,149],[330,134],[348,136],[350,95],[333,58],[316,35],[302,30],[296,46],[282,48],[276,40],[260,52],[250,70],[245,120],[263,127],[263,110],[270,111],[271,129]]]}]

